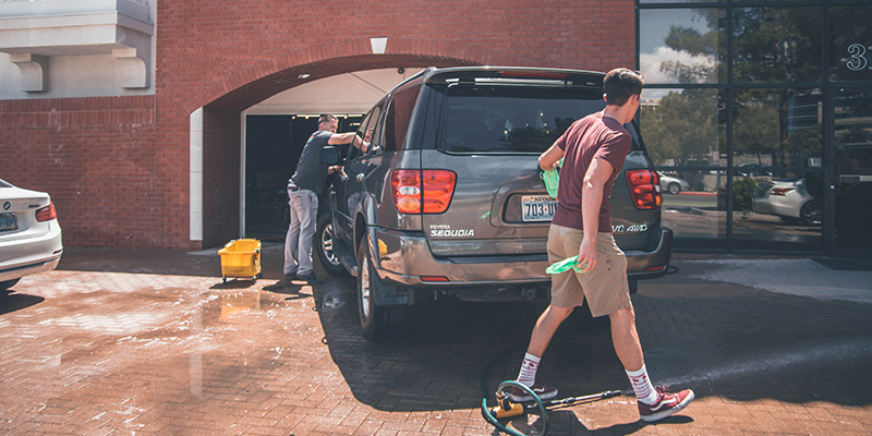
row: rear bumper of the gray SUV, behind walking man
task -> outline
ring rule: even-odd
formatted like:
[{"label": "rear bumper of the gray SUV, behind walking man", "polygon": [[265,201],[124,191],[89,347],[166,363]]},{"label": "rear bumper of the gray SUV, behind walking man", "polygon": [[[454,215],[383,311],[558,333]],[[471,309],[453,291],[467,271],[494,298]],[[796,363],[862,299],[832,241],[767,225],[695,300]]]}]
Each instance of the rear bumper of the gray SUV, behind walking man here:
[{"label": "rear bumper of the gray SUV, behind walking man", "polygon": [[[462,289],[501,287],[549,287],[546,254],[475,257],[434,257],[422,232],[401,232],[377,228],[376,270],[387,284],[411,289]],[[673,231],[652,232],[644,251],[626,251],[628,277],[644,280],[662,277],[671,256]]]}]

